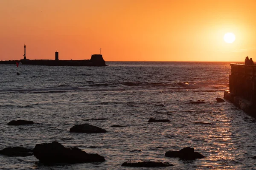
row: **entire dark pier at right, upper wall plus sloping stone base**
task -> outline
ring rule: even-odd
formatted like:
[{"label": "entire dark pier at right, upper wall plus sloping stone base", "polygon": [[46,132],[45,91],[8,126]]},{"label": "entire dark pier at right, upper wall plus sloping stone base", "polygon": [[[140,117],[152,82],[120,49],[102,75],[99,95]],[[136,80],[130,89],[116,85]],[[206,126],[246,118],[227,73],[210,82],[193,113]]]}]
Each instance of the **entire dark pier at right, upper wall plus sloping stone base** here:
[{"label": "entire dark pier at right, upper wall plus sloping stone base", "polygon": [[256,117],[256,65],[230,64],[230,66],[230,89],[224,92],[224,99]]}]

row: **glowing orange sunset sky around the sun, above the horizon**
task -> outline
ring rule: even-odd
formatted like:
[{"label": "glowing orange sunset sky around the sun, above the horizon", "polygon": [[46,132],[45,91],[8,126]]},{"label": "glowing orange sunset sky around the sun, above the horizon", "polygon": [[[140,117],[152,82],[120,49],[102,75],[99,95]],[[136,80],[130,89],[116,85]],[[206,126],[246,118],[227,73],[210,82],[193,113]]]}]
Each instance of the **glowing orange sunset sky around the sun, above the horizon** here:
[{"label": "glowing orange sunset sky around the sun, above the horizon", "polygon": [[0,16],[0,60],[24,43],[27,59],[256,60],[256,0],[0,0]]}]

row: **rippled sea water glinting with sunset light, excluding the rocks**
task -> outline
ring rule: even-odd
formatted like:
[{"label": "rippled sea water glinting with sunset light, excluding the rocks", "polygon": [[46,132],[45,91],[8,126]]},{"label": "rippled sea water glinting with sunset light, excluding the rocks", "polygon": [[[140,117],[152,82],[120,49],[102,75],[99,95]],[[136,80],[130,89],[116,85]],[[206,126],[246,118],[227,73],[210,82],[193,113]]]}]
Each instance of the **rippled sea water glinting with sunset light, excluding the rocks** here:
[{"label": "rippled sea water glinting with sunset light, excluding the rocks", "polygon": [[[0,169],[137,170],[128,160],[166,161],[150,169],[256,169],[256,121],[230,102],[229,62],[107,62],[109,67],[0,65],[0,149],[58,141],[99,153],[103,163],[46,165],[0,155]],[[17,70],[20,75],[16,75]],[[205,103],[192,104],[197,100]],[[148,123],[149,118],[171,122]],[[97,119],[102,120],[87,120]],[[24,119],[39,124],[8,126]],[[108,133],[70,133],[89,123]],[[124,127],[111,127],[122,125]],[[168,158],[194,147],[205,158]],[[138,152],[138,150],[142,150]]]}]

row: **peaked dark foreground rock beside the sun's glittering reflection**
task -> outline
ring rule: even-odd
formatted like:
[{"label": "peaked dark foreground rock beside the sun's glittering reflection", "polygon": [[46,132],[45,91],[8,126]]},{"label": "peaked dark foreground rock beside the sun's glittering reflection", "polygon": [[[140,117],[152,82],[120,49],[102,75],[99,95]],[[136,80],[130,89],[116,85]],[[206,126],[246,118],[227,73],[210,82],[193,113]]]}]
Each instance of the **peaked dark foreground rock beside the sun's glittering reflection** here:
[{"label": "peaked dark foreground rock beside the sun's glittering reflection", "polygon": [[167,157],[178,157],[183,160],[195,160],[198,158],[204,158],[201,153],[195,152],[192,147],[185,147],[179,151],[168,151],[165,153]]}]

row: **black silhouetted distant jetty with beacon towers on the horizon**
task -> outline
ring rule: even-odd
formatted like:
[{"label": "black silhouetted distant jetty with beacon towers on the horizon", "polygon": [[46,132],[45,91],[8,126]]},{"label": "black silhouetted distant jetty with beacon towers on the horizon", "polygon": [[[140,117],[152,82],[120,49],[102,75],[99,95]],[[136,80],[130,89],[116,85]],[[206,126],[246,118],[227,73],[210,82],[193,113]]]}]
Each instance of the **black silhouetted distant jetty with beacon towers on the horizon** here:
[{"label": "black silhouetted distant jetty with beacon towers on the horizon", "polygon": [[[58,51],[55,52],[55,60],[52,59],[27,59],[26,45],[24,45],[24,58],[20,62],[25,65],[49,65],[49,66],[108,66],[102,54],[92,54],[90,59],[83,60],[59,60]],[[0,61],[0,64],[15,64],[17,60]]]}]

